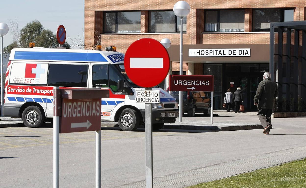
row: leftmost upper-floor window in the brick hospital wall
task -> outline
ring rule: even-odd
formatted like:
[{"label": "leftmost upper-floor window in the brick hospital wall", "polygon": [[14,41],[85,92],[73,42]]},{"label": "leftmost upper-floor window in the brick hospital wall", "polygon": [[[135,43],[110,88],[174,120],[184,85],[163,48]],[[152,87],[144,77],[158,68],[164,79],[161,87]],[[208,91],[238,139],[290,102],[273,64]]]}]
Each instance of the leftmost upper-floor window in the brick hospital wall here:
[{"label": "leftmost upper-floor window in the brick hospital wall", "polygon": [[140,11],[104,12],[104,33],[140,33]]}]

